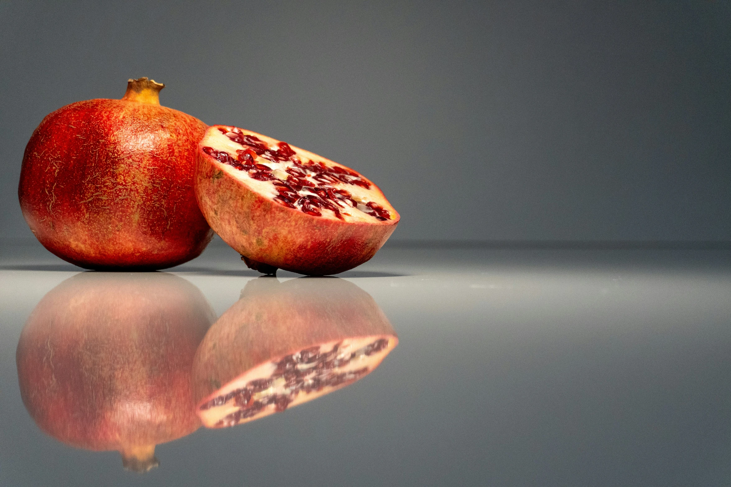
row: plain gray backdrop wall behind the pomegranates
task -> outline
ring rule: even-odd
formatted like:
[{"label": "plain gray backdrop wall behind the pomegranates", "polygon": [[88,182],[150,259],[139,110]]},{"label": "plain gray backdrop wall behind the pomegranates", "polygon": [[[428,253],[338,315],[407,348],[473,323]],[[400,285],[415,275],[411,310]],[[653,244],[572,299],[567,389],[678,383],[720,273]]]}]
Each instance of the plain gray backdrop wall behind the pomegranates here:
[{"label": "plain gray backdrop wall behind the pomegranates", "polygon": [[376,181],[394,239],[731,239],[731,4],[0,1],[0,237],[48,112],[121,98]]}]

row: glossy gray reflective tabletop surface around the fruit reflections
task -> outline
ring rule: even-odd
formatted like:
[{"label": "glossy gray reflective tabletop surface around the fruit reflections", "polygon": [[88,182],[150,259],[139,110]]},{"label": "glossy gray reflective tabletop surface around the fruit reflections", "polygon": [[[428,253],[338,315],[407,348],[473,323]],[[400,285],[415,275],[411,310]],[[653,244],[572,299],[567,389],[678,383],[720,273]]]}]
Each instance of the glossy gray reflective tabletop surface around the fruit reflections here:
[{"label": "glossy gray reflective tabletop surface around the fruit reflections", "polygon": [[[354,302],[372,296],[398,346],[332,394],[157,445],[160,465],[145,474],[125,471],[115,451],[66,445],[31,418],[20,388],[34,385],[19,385],[16,367],[21,331],[82,269],[34,242],[2,252],[1,486],[731,482],[727,249],[392,246],[338,276],[363,293],[305,278],[314,292],[302,293],[303,306],[325,280]],[[258,275],[221,242],[169,272],[216,316],[247,299],[241,291]]]}]

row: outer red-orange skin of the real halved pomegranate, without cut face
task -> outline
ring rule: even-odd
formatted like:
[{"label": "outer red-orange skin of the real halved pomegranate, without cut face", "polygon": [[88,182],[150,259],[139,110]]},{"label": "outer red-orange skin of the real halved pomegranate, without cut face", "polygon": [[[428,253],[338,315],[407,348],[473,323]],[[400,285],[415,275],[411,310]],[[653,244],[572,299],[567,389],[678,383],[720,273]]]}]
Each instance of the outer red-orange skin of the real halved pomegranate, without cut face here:
[{"label": "outer red-orange skin of the real halved pomegranate, without cut face", "polygon": [[395,211],[388,221],[346,223],[284,207],[221,171],[201,148],[195,176],[198,205],[216,234],[254,261],[306,275],[338,274],[368,261],[396,229]]}]

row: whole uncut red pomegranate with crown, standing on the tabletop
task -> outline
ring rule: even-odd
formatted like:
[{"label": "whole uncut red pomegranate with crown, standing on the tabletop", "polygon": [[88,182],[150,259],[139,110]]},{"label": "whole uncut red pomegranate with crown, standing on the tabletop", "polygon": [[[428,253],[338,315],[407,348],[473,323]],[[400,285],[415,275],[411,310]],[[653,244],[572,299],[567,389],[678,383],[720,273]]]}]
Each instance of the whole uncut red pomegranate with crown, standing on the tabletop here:
[{"label": "whole uncut red pomegranate with crown, standing on the tabletop", "polygon": [[193,190],[206,125],[161,107],[163,87],[129,80],[121,100],[72,103],[33,132],[20,208],[56,256],[86,269],[162,269],[211,241]]}]

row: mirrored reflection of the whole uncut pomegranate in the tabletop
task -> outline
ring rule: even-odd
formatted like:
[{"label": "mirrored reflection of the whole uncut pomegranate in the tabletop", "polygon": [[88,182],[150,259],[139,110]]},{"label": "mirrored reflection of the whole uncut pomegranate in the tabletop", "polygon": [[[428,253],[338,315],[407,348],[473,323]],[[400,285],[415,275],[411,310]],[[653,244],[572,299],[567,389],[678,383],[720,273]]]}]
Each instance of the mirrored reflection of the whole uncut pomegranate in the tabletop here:
[{"label": "mirrored reflection of the whole uncut pomegranate in the tabletop", "polygon": [[40,429],[124,467],[157,465],[155,445],[194,432],[190,369],[214,319],[168,274],[76,275],[39,302],[20,334],[23,404]]}]

